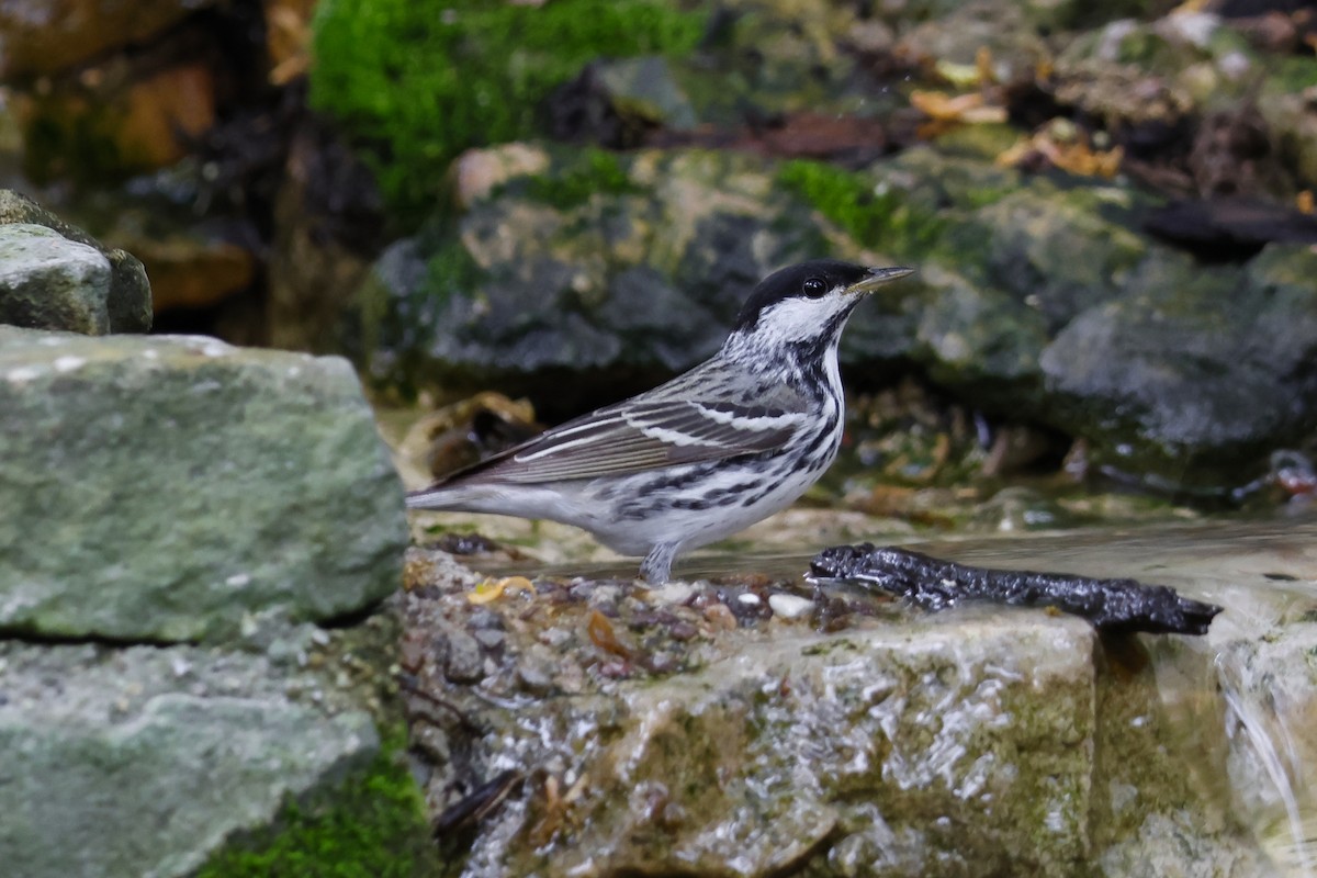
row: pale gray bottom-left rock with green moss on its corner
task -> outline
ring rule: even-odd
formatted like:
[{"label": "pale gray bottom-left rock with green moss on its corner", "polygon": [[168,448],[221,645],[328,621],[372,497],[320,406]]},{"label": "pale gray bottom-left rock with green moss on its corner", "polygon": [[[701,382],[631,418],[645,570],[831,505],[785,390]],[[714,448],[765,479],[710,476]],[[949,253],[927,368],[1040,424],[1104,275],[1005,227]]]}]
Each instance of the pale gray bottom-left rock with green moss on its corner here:
[{"label": "pale gray bottom-left rock with green moss on its corner", "polygon": [[223,646],[0,641],[5,874],[439,874],[396,642],[387,613]]}]

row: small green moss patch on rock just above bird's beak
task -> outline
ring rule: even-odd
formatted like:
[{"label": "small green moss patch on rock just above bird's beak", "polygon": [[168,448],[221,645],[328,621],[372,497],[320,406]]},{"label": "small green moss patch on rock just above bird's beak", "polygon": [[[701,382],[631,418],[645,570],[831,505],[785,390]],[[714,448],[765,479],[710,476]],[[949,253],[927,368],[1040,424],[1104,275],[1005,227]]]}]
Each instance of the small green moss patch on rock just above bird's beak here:
[{"label": "small green moss patch on rock just above bird's beak", "polygon": [[836,222],[861,245],[901,258],[927,254],[944,230],[942,220],[909,204],[902,192],[876,186],[864,174],[823,162],[784,162],[777,183]]}]

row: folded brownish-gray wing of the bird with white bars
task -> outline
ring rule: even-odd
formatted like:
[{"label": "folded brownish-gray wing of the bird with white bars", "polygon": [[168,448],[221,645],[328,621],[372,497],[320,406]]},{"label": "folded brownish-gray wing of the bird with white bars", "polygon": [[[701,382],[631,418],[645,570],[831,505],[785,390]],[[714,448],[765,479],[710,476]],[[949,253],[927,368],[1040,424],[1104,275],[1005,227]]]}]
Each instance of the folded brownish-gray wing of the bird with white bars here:
[{"label": "folded brownish-gray wing of the bird with white bars", "polygon": [[593,479],[770,452],[803,425],[805,412],[793,392],[757,405],[647,394],[568,421],[444,482]]}]

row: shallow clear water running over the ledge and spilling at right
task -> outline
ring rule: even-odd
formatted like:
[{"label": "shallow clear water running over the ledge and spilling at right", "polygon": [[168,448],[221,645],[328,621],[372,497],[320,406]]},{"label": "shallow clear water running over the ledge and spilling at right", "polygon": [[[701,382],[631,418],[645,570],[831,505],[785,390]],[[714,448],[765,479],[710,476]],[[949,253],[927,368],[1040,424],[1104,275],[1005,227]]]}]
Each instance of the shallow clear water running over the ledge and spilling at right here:
[{"label": "shallow clear water running over the ledge and spilling at right", "polygon": [[[1317,516],[890,542],[988,567],[1130,577],[1222,606],[1205,637],[1139,637],[1162,721],[1198,794],[1251,835],[1276,874],[1317,878]],[[809,557],[705,553],[684,559],[677,575],[756,573],[803,587]],[[515,569],[597,578],[635,570],[633,561]],[[1195,765],[1196,753],[1220,758]]]}]

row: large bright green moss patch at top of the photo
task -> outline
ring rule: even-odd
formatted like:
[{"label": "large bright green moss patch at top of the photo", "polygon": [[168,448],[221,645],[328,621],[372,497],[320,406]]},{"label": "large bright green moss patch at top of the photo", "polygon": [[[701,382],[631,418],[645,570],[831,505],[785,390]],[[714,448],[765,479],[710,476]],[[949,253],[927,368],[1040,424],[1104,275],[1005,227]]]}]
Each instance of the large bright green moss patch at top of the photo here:
[{"label": "large bright green moss patch at top of the photo", "polygon": [[533,136],[544,99],[594,58],[690,51],[705,16],[656,0],[325,0],[312,104],[366,147],[404,222],[470,146]]}]

